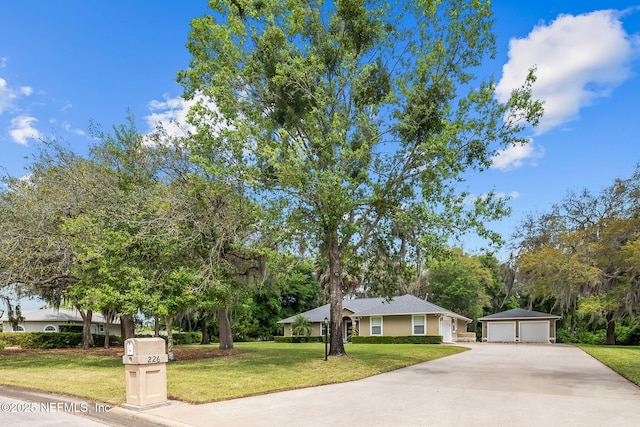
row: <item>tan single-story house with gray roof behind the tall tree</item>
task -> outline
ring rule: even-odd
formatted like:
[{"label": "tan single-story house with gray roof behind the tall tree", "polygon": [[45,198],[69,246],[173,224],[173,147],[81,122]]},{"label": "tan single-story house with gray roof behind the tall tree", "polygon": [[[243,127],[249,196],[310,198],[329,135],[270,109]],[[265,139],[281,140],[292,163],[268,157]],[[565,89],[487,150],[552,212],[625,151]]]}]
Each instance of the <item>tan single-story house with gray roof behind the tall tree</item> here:
[{"label": "tan single-story house with gray roof behind the tall tree", "polygon": [[[312,326],[311,335],[324,334],[324,319],[329,318],[329,304],[301,313]],[[284,325],[284,335],[292,336],[295,317],[278,323]],[[475,341],[467,332],[471,319],[413,295],[385,298],[362,298],[342,301],[343,339],[354,331],[359,336],[441,335],[443,342]]]}]

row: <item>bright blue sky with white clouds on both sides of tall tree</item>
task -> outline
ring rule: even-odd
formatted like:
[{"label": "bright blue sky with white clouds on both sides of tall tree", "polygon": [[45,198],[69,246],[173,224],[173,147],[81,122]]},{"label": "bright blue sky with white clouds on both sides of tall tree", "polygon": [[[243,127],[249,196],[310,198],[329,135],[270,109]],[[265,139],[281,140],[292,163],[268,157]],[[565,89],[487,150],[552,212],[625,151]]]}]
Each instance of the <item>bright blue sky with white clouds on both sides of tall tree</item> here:
[{"label": "bright blue sky with white clouds on both sides of tall tree", "polygon": [[[508,238],[530,212],[569,190],[599,191],[640,161],[640,3],[493,2],[498,56],[485,71],[497,96],[538,67],[534,95],[547,115],[531,143],[501,153],[466,188],[511,196],[513,214],[493,224]],[[146,132],[183,119],[175,82],[185,69],[189,21],[206,1],[21,0],[0,6],[0,173],[21,176],[40,137],[79,152],[91,120],[108,130],[129,109]],[[465,241],[469,252],[482,242]]]}]

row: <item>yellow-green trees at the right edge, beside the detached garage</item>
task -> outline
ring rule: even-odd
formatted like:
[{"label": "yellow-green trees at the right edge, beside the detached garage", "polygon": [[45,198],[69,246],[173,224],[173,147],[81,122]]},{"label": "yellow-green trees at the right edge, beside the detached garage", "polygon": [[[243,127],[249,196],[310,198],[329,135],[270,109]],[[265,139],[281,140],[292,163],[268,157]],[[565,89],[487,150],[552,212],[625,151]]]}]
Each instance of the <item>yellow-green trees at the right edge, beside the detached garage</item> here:
[{"label": "yellow-green trees at the right edge, beside the detached garage", "polygon": [[515,286],[531,304],[563,313],[568,338],[604,326],[613,345],[621,322],[625,341],[640,344],[640,167],[530,215],[513,247]]}]

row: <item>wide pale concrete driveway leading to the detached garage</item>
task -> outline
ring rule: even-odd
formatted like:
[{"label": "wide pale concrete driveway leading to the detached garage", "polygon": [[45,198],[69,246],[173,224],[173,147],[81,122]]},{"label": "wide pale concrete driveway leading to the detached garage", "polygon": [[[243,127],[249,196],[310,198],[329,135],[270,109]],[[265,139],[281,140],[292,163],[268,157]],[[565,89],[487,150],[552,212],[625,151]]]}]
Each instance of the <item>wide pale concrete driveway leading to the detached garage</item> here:
[{"label": "wide pale concrete driveway leading to the detached garage", "polygon": [[[141,416],[192,426],[637,426],[640,388],[578,348],[467,351],[360,381]],[[348,352],[347,347],[347,352]]]}]

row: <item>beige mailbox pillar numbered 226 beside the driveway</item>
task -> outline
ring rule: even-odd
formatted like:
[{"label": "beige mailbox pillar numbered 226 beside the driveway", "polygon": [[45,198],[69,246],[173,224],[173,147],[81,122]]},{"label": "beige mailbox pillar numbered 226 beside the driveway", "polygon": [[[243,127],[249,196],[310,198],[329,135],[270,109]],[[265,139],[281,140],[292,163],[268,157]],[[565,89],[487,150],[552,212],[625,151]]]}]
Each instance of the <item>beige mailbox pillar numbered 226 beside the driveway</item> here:
[{"label": "beige mailbox pillar numbered 226 beside the driveway", "polygon": [[124,342],[126,406],[144,409],[167,403],[167,361],[162,338],[129,338]]}]

